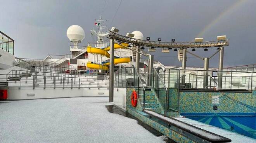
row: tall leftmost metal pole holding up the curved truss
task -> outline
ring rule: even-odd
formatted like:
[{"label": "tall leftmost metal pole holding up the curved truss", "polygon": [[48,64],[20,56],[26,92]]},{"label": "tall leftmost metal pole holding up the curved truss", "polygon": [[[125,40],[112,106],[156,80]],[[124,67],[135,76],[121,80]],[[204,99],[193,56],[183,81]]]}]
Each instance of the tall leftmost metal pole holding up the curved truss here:
[{"label": "tall leftmost metal pole holding up the curved truss", "polygon": [[110,39],[109,102],[114,101],[114,39]]}]

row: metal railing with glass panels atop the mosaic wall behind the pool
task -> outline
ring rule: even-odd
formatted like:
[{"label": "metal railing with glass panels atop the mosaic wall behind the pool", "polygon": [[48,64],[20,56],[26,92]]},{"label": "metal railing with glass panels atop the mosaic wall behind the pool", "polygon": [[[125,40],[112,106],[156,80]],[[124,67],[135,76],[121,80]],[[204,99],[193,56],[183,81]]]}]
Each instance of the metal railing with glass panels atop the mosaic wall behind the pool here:
[{"label": "metal railing with glass panels atop the mosaic wall behind the pool", "polygon": [[[162,80],[169,88],[178,88],[177,81],[180,80],[182,89],[216,87],[218,89],[256,90],[256,72],[166,69],[166,72],[160,72],[159,75],[164,75]],[[221,88],[218,86],[220,78],[222,78]],[[208,80],[205,81],[205,79]]]}]

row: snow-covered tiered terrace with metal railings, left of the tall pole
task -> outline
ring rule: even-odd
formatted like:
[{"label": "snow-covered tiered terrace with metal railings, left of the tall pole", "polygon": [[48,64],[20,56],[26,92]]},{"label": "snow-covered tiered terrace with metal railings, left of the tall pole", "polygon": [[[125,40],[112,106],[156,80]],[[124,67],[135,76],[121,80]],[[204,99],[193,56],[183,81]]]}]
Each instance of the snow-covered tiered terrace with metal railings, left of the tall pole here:
[{"label": "snow-covered tiered terrace with metal railings, left of the tall pole", "polygon": [[11,70],[7,74],[0,74],[0,81],[6,82],[6,87],[26,87],[32,89],[109,89],[109,75],[84,74],[69,75],[54,72],[31,72],[29,70]]}]

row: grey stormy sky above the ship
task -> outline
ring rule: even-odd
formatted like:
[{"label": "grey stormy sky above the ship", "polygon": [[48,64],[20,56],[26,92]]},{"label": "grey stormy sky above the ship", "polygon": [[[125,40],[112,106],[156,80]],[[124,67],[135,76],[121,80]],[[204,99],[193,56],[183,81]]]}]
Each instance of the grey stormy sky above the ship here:
[{"label": "grey stormy sky above the ship", "polygon": [[[15,40],[15,56],[45,58],[47,54],[68,54],[66,30],[79,25],[86,37],[80,45],[93,41],[90,29],[100,15],[107,26],[120,29],[120,34],[141,31],[144,37],[162,41],[205,41],[227,35],[230,46],[225,47],[224,66],[256,63],[256,0],[0,0],[0,31]],[[113,21],[113,22],[112,22]],[[112,23],[112,24],[111,24]],[[216,48],[195,53],[207,57]],[[155,60],[164,65],[181,65],[177,53],[161,53]],[[193,57],[189,55],[189,57]],[[188,58],[187,66],[202,66],[203,61]],[[218,55],[210,59],[218,66]]]}]

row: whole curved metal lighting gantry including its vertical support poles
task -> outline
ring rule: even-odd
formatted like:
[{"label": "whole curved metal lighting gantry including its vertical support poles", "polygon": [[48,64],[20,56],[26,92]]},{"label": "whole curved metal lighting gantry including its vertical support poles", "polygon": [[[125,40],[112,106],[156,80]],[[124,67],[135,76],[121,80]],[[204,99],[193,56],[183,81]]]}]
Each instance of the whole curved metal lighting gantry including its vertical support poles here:
[{"label": "whole curved metal lighting gantry including its vertical support poles", "polygon": [[[120,34],[117,34],[114,31],[109,31],[109,35],[107,36],[111,41],[117,41],[120,43],[128,43],[135,45],[137,47],[143,46],[143,47],[150,47],[150,48],[179,48],[183,49],[183,60],[182,60],[182,69],[185,72],[186,69],[186,56],[187,56],[187,48],[213,48],[213,47],[219,47],[220,48],[220,56],[219,56],[219,70],[223,70],[223,53],[224,53],[224,46],[228,46],[228,39],[224,40],[217,40],[217,41],[202,41],[202,42],[162,42],[162,41],[149,41],[149,40],[140,40],[135,39],[132,37],[126,37]],[[114,50],[114,44],[111,44],[110,46],[111,50]],[[216,53],[215,53],[216,54]],[[149,55],[153,59],[152,55]],[[185,57],[185,58],[184,58]],[[184,60],[185,59],[185,60]],[[136,60],[139,60],[138,58]],[[209,58],[204,59],[204,68],[209,68]],[[153,63],[153,61],[151,61]],[[149,63],[150,65],[151,62]],[[114,67],[114,62],[110,60],[110,66]],[[150,71],[150,70],[149,70]],[[222,74],[222,73],[220,73]],[[112,76],[111,76],[112,75]],[[222,75],[218,75],[220,78],[218,78],[218,88],[222,87]],[[110,70],[110,77],[114,78],[114,70]],[[113,102],[113,90],[114,87],[111,86],[114,84],[114,79],[110,79],[109,85],[109,102]],[[206,82],[206,81],[205,81]]]}]

